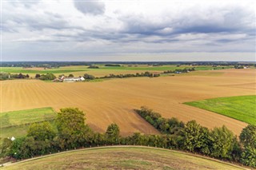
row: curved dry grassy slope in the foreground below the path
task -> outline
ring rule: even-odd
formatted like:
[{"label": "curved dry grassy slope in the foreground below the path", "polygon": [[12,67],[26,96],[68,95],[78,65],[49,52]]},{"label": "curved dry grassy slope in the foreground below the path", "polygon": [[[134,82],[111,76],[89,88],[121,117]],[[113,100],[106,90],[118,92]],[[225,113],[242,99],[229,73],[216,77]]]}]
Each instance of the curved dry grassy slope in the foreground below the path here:
[{"label": "curved dry grassy slope in the foreground below the path", "polygon": [[2,169],[243,169],[221,161],[148,147],[106,147],[62,152]]}]

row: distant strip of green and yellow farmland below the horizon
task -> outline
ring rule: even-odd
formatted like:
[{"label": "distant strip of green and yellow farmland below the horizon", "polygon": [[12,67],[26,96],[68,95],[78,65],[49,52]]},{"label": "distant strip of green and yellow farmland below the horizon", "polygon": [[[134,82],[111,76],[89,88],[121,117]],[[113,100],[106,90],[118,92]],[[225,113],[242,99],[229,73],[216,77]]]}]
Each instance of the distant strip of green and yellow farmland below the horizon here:
[{"label": "distant strip of green and yellow farmland below the horizon", "polygon": [[[94,75],[95,77],[102,77],[109,75],[110,73],[113,74],[124,74],[124,73],[142,73],[146,71],[151,72],[163,72],[165,70],[174,70],[174,69],[185,69],[185,68],[192,68],[195,67],[196,70],[211,70],[211,69],[222,69],[222,66],[219,67],[212,67],[210,65],[206,66],[190,66],[190,65],[163,65],[163,66],[152,66],[152,65],[122,65],[122,66],[104,66],[98,65],[99,69],[88,69],[88,65],[75,65],[75,66],[63,66],[59,68],[52,68],[52,69],[44,69],[44,68],[26,68],[23,69],[22,67],[2,67],[1,72],[5,73],[24,73],[29,74],[30,77],[34,77],[35,74],[43,74],[43,73],[54,73],[55,76],[60,74],[74,74],[74,76],[83,76],[85,73],[89,73]],[[233,68],[233,66],[223,66],[224,69]]]}]

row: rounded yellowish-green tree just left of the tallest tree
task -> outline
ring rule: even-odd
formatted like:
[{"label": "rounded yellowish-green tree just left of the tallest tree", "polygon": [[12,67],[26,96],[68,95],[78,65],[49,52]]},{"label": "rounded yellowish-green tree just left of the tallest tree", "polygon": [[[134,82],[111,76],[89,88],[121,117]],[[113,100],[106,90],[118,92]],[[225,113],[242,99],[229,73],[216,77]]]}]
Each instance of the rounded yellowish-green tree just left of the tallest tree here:
[{"label": "rounded yellowish-green tree just left of the tallest tree", "polygon": [[48,121],[30,125],[27,136],[33,136],[34,140],[53,140],[56,133]]}]

